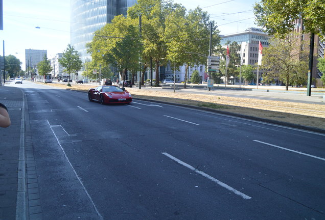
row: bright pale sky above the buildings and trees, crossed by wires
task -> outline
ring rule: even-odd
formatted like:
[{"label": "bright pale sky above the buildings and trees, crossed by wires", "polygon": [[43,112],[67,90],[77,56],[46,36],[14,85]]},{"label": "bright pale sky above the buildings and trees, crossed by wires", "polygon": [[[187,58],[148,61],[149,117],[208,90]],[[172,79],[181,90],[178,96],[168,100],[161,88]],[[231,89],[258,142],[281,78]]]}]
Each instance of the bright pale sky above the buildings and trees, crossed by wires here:
[{"label": "bright pale sky above the buildings and trees, crossed by wires", "polygon": [[[85,1],[85,0],[84,0]],[[96,0],[87,0],[94,1]],[[215,20],[220,34],[243,32],[254,24],[253,5],[256,0],[174,0],[185,8],[197,6]],[[199,5],[198,5],[199,4]],[[25,49],[48,51],[52,59],[70,43],[69,0],[3,0],[4,30],[0,30],[0,54],[17,57],[25,70]]]}]

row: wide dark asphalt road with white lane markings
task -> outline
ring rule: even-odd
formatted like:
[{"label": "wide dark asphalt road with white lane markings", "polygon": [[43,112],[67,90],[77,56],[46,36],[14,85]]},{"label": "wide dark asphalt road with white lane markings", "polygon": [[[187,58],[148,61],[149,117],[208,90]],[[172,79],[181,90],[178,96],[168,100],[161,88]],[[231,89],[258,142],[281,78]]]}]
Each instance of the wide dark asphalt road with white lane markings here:
[{"label": "wide dark asphalt road with white lane markings", "polygon": [[325,135],[25,82],[44,219],[325,219]]}]

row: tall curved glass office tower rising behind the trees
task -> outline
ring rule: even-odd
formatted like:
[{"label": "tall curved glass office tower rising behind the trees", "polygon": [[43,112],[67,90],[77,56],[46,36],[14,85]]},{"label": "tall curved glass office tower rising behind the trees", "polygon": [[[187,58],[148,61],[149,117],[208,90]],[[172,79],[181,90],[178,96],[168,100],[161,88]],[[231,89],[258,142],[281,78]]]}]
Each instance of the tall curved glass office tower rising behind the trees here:
[{"label": "tall curved glass office tower rising behind the trees", "polygon": [[82,62],[90,60],[86,43],[116,15],[126,15],[136,0],[71,0],[71,44],[81,54]]}]

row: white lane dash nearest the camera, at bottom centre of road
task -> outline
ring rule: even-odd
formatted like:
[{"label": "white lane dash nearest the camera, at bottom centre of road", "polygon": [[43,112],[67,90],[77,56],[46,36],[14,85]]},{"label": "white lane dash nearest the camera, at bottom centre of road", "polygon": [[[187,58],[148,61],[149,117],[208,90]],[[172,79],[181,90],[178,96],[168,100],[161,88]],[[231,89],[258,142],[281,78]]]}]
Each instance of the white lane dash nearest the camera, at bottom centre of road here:
[{"label": "white lane dash nearest the camera, at bottom centre of road", "polygon": [[247,199],[247,200],[248,200],[248,199],[251,199],[251,197],[249,197],[249,196],[247,196],[247,195],[241,193],[240,191],[234,189],[234,188],[231,187],[231,186],[228,186],[227,184],[225,184],[225,183],[223,183],[223,182],[217,180],[216,178],[214,178],[214,177],[212,177],[212,176],[210,176],[210,175],[207,175],[206,173],[203,173],[202,171],[199,171],[198,169],[192,167],[190,164],[187,164],[187,163],[185,163],[185,162],[183,162],[183,161],[177,159],[176,157],[174,157],[174,156],[172,156],[172,155],[170,155],[170,154],[168,154],[168,153],[162,153],[162,154],[164,154],[165,156],[168,156],[169,158],[171,158],[172,160],[178,162],[179,164],[183,165],[184,167],[187,167],[187,168],[189,168],[190,170],[192,170],[192,171],[194,171],[194,172],[196,172],[196,173],[198,173],[198,174],[201,174],[202,176],[206,177],[207,179],[210,179],[210,180],[214,181],[214,182],[217,183],[218,185],[220,185],[220,186],[222,186],[222,187],[228,189],[229,191],[232,191],[234,194],[236,194],[236,195],[242,197],[243,199]]}]

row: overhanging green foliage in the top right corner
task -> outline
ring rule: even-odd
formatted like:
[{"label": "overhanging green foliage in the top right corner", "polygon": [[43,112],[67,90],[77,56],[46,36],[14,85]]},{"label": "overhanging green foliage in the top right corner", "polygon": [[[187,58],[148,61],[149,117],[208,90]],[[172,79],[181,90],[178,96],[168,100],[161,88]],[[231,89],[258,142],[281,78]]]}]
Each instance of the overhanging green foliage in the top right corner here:
[{"label": "overhanging green foliage in the top right corner", "polygon": [[324,37],[325,2],[319,0],[261,0],[254,6],[257,24],[266,28],[269,34],[281,35],[292,32],[294,21],[303,19],[304,32]]}]

